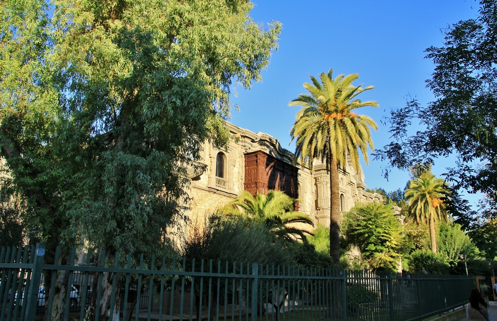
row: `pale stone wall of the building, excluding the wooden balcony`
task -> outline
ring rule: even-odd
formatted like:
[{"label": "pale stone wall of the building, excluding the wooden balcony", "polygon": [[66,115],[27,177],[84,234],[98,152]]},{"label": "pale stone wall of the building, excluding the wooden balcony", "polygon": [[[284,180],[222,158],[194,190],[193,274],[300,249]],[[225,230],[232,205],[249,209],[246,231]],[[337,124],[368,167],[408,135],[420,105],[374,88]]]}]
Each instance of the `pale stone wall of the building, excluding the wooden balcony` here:
[{"label": "pale stone wall of the building, excluding the wooden balcony", "polygon": [[[283,149],[278,140],[264,133],[253,133],[247,129],[227,123],[232,138],[223,150],[204,144],[200,163],[204,172],[192,180],[189,195],[192,197],[192,220],[203,222],[205,214],[213,213],[233,197],[239,195],[245,186],[245,161],[249,153],[263,152],[269,159],[292,164],[294,155]],[[216,177],[218,154],[224,161],[224,177]],[[299,210],[308,214],[315,224],[330,224],[330,176],[325,165],[319,161],[313,169],[296,165]],[[381,202],[381,195],[365,191],[362,169],[356,172],[349,162],[346,170],[340,170],[340,201],[342,213],[348,212],[356,202]]]}]

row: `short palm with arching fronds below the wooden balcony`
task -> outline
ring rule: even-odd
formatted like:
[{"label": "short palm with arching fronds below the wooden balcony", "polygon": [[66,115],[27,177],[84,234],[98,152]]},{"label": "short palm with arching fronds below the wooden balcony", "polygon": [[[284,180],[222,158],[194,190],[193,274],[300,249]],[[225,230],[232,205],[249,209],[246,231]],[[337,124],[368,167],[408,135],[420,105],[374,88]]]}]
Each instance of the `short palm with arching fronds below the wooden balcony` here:
[{"label": "short palm with arching fronds below the wooden balcony", "polygon": [[238,215],[248,222],[264,225],[276,238],[306,241],[310,232],[299,227],[306,224],[314,227],[313,220],[302,212],[296,212],[295,199],[282,191],[269,190],[267,194],[254,197],[250,192],[243,191],[221,211],[226,215]]}]

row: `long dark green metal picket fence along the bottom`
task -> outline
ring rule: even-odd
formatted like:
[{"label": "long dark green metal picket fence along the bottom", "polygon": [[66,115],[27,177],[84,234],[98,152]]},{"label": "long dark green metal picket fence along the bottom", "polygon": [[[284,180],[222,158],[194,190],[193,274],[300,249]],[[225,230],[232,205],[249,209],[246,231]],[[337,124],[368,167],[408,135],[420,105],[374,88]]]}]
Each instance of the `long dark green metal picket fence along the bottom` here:
[{"label": "long dark green metal picket fence along the bottom", "polygon": [[[467,302],[475,277],[375,273],[301,266],[131,256],[46,264],[43,244],[2,248],[0,319],[51,320],[56,278],[64,275],[64,320],[422,320]],[[55,261],[61,257],[57,250]],[[103,255],[105,256],[105,255]],[[148,266],[148,269],[144,269]],[[45,284],[50,280],[50,284]],[[106,282],[108,289],[103,284]],[[48,283],[48,282],[47,282]],[[107,291],[108,290],[108,291]],[[45,300],[46,299],[46,300]]]}]

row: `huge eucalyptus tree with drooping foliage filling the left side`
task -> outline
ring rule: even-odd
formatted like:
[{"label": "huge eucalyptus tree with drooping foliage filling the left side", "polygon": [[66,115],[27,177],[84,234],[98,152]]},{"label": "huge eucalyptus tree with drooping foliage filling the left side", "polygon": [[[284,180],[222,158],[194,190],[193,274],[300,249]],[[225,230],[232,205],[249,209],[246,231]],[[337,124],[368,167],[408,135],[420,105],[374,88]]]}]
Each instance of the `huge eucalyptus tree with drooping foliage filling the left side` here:
[{"label": "huge eucalyptus tree with drooping foliage filling the left side", "polygon": [[277,48],[280,24],[262,29],[252,6],[2,1],[1,157],[47,253],[81,235],[106,261],[164,253],[188,204],[187,165],[205,140],[227,141],[232,81],[260,80]]}]

